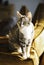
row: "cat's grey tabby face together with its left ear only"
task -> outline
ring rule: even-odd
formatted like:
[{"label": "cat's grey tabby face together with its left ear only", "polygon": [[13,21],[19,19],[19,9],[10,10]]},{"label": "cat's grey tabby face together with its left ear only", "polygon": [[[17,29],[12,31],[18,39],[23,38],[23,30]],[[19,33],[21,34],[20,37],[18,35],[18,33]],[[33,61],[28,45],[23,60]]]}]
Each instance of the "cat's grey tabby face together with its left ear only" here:
[{"label": "cat's grey tabby face together with its left ear only", "polygon": [[20,27],[28,26],[30,24],[31,19],[29,19],[28,16],[21,15],[19,12],[17,12],[18,16],[18,24]]}]

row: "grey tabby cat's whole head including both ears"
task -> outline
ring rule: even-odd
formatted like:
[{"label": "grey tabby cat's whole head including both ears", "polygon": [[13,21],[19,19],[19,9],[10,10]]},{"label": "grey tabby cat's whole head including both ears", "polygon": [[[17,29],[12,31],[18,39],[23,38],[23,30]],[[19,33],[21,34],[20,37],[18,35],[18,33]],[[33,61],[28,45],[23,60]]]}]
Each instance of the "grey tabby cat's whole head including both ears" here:
[{"label": "grey tabby cat's whole head including both ears", "polygon": [[28,12],[27,15],[21,15],[19,11],[17,11],[17,17],[18,17],[18,24],[20,27],[27,26],[30,24],[30,21],[32,21],[32,14],[31,12]]}]

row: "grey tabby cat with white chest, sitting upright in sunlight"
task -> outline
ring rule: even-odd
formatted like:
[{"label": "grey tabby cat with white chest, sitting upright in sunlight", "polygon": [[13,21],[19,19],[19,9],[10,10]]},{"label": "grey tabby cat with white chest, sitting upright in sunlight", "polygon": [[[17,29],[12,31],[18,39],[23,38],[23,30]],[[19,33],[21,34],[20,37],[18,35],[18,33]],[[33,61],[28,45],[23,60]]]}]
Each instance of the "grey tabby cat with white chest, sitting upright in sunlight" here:
[{"label": "grey tabby cat with white chest, sitting upright in sunlight", "polygon": [[17,12],[18,22],[12,30],[11,43],[15,47],[15,43],[20,47],[17,49],[19,53],[22,53],[24,59],[30,57],[30,48],[34,36],[34,26],[32,18],[29,16],[23,16]]}]

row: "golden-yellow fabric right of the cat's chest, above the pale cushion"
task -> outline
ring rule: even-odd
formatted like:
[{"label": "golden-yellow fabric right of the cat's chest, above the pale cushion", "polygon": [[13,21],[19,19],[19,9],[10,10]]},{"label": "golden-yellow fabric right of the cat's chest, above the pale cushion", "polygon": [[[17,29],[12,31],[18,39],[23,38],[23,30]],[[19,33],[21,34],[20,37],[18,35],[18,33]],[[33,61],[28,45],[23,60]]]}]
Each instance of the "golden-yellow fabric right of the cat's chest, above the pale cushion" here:
[{"label": "golden-yellow fabric right of the cat's chest, above the pale cushion", "polygon": [[43,28],[44,28],[44,20],[43,19],[40,20],[39,23],[37,21],[37,23],[35,25],[35,29],[34,29],[34,31],[35,31],[34,39],[42,32]]}]

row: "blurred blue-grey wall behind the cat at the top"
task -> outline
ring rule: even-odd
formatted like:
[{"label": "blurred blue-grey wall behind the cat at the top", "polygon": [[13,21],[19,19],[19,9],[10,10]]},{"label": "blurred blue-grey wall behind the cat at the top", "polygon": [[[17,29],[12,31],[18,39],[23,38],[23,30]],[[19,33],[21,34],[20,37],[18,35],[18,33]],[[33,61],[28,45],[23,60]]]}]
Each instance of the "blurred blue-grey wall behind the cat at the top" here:
[{"label": "blurred blue-grey wall behind the cat at the top", "polygon": [[[3,0],[3,2],[5,1],[6,0]],[[20,10],[22,5],[26,5],[33,15],[35,13],[38,4],[44,3],[44,0],[8,0],[8,1],[9,4],[14,4],[14,11]]]}]

